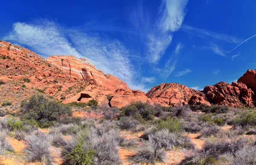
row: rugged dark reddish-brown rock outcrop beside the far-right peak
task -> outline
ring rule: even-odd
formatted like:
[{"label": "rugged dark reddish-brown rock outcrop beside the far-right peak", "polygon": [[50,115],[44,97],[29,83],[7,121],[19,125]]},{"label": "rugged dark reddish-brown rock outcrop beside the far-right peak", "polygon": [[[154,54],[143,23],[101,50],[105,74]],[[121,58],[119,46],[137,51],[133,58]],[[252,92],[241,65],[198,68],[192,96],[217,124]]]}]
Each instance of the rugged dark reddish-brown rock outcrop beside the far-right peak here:
[{"label": "rugged dark reddish-brown rock outcrop beside the far-right peak", "polygon": [[207,100],[211,104],[228,105],[231,107],[253,107],[254,93],[245,84],[233,82],[219,82],[212,86],[204,87]]}]

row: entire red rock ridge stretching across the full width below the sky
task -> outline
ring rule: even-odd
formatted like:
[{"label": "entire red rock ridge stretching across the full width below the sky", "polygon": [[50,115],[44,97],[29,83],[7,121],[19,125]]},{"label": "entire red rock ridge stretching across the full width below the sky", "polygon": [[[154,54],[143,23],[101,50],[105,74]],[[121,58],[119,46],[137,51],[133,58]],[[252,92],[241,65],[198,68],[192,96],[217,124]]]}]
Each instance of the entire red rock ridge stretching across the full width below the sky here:
[{"label": "entire red rock ridge stretching across the full width below the sky", "polygon": [[58,101],[88,102],[91,99],[123,107],[133,101],[178,104],[221,104],[253,107],[256,102],[256,70],[248,69],[238,83],[219,82],[193,90],[177,83],[162,83],[148,93],[131,90],[124,81],[104,74],[85,58],[50,56],[41,58],[29,49],[0,41],[1,100],[19,102],[33,93],[45,93]]}]

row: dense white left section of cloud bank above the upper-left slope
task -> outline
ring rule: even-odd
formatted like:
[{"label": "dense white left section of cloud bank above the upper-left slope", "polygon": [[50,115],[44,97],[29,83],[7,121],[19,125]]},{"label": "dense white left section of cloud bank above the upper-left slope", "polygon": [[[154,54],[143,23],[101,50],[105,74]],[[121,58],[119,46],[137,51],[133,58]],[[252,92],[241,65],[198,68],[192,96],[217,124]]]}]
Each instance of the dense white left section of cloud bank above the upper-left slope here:
[{"label": "dense white left section of cloud bank above the upper-left slope", "polygon": [[61,34],[61,28],[49,20],[40,20],[35,24],[14,23],[12,32],[5,36],[3,40],[15,41],[30,46],[35,52],[44,56],[81,56]]}]

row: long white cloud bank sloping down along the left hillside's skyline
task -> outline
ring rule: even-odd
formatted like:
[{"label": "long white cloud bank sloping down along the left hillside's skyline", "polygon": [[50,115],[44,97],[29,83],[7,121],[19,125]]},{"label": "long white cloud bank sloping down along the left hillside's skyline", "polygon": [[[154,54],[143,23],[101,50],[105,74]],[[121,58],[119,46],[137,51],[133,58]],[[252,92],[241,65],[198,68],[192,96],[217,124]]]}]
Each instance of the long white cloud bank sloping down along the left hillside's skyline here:
[{"label": "long white cloud bank sloping down along the left hillside's skyline", "polygon": [[47,19],[31,24],[14,23],[4,40],[29,46],[44,56],[74,55],[87,58],[97,69],[115,75],[132,89],[145,91],[145,85],[137,83],[139,72],[130,61],[136,53],[118,40],[89,36],[78,29],[64,29]]}]

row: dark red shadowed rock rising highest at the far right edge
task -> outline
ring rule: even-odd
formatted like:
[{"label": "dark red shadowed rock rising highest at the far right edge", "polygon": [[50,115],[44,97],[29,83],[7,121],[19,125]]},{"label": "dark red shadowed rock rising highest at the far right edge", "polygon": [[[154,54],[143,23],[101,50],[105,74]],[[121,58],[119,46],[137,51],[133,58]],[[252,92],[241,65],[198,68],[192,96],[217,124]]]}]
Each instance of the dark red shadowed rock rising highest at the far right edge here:
[{"label": "dark red shadowed rock rising highest at the far right edge", "polygon": [[[248,69],[237,82],[245,84],[248,88],[253,90],[254,93],[256,93],[256,70]],[[256,95],[253,97],[253,101],[256,101]]]}]

